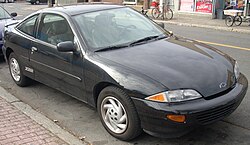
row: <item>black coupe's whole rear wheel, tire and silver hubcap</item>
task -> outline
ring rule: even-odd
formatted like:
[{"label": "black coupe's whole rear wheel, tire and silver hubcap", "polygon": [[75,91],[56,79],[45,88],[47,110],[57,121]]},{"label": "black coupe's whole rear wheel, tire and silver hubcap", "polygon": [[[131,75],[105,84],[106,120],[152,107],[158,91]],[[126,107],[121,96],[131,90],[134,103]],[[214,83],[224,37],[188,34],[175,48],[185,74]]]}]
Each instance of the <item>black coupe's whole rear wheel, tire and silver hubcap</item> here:
[{"label": "black coupe's whole rear wheel, tire and silver hubcap", "polygon": [[9,56],[9,71],[11,77],[18,86],[25,87],[29,85],[30,79],[23,75],[21,68],[20,61],[18,60],[15,53],[12,52]]}]

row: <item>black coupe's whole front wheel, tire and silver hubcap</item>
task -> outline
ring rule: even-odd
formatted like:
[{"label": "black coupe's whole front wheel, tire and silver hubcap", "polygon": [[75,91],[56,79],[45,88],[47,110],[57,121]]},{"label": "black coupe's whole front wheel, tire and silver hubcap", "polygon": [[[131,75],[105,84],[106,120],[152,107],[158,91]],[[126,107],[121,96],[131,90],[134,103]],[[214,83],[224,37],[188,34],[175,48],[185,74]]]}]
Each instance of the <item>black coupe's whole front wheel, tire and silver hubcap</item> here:
[{"label": "black coupe's whole front wheel, tire and silver hubcap", "polygon": [[103,126],[112,136],[128,141],[141,134],[134,103],[123,90],[113,86],[104,88],[97,100],[97,110]]}]

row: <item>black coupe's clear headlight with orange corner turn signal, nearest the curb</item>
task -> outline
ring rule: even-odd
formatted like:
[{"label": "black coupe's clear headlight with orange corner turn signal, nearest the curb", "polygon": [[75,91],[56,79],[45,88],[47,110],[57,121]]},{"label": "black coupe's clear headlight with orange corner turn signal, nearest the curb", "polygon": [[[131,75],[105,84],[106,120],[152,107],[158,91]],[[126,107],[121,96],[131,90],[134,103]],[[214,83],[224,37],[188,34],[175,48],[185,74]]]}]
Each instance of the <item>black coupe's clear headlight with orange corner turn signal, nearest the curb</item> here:
[{"label": "black coupe's clear headlight with orange corner turn signal, nearest the curb", "polygon": [[157,101],[157,102],[181,102],[188,101],[202,96],[195,90],[186,89],[186,90],[174,90],[167,91],[159,94],[155,94],[145,98],[146,100]]}]

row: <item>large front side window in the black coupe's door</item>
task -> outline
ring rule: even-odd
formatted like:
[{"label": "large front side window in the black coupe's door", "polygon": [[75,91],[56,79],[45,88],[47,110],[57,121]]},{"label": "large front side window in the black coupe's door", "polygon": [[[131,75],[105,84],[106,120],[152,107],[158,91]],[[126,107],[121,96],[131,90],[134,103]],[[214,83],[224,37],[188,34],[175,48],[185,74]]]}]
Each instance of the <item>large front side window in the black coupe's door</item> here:
[{"label": "large front side window in the black coupe's door", "polygon": [[38,30],[38,39],[57,45],[64,41],[73,41],[73,32],[65,18],[55,14],[44,14]]}]

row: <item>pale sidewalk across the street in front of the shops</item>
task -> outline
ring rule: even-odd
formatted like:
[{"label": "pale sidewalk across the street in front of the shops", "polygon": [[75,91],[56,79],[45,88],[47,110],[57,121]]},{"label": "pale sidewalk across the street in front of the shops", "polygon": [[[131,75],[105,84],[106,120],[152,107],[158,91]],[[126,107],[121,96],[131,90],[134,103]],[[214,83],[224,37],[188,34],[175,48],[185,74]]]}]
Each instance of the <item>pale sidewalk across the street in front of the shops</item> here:
[{"label": "pale sidewalk across the street in front of the shops", "polygon": [[[142,6],[137,5],[131,7],[138,11],[141,11]],[[147,15],[151,18],[151,9],[148,10]],[[212,19],[212,16],[208,14],[178,12],[174,13],[174,17],[172,20],[157,19],[155,21],[181,26],[209,28],[222,31],[233,31],[250,34],[250,23],[242,22],[240,26],[227,27],[224,19]]]}]

